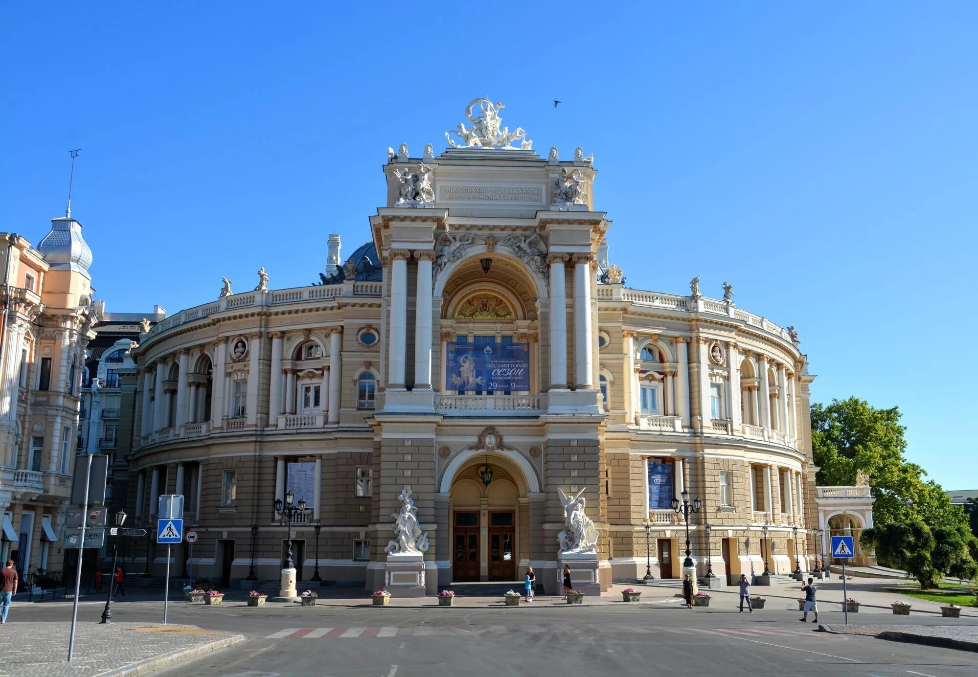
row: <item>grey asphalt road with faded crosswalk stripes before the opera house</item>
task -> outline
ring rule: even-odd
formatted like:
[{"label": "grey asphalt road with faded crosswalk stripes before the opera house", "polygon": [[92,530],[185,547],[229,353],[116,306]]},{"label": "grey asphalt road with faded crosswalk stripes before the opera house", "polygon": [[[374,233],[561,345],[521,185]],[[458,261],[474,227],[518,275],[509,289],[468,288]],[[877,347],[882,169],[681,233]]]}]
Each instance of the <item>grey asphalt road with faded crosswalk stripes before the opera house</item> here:
[{"label": "grey asphalt road with faded crosswalk stripes before the opera house", "polygon": [[[159,603],[113,605],[119,621],[160,620]],[[85,602],[79,620],[98,619]],[[23,620],[70,614],[18,609]],[[262,609],[171,605],[169,620],[243,632],[248,641],[158,675],[436,677],[440,675],[744,674],[948,677],[978,674],[978,654],[817,632],[794,611],[662,605],[518,609]],[[873,616],[892,623],[895,616]],[[841,613],[822,614],[841,622]],[[859,618],[869,621],[869,618]],[[917,617],[920,623],[924,618]],[[938,622],[937,619],[931,619]],[[960,621],[959,621],[960,622]],[[11,627],[11,626],[8,626]],[[13,627],[11,627],[13,629]]]}]

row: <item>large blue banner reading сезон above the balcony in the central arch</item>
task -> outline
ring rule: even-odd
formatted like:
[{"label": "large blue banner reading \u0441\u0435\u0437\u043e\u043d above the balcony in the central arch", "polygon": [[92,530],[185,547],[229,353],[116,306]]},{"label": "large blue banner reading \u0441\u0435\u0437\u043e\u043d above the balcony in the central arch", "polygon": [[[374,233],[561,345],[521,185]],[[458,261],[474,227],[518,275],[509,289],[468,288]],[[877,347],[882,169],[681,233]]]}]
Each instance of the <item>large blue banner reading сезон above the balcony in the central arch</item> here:
[{"label": "large blue banner reading \u0441\u0435\u0437\u043e\u043d above the balcony in the central arch", "polygon": [[529,343],[448,344],[445,388],[460,392],[529,391]]}]

